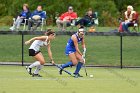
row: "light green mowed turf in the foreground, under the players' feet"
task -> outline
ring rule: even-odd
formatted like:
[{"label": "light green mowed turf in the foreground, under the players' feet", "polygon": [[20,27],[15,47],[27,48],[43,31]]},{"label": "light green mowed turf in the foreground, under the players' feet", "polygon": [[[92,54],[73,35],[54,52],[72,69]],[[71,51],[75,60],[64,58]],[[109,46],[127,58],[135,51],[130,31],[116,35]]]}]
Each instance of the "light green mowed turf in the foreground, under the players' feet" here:
[{"label": "light green mowed turf in the foreground, under the players' feet", "polygon": [[[75,67],[67,70],[73,72]],[[43,77],[31,77],[22,66],[0,66],[0,93],[139,93],[140,69],[87,68],[86,77],[58,74],[56,67],[44,67]]]}]

